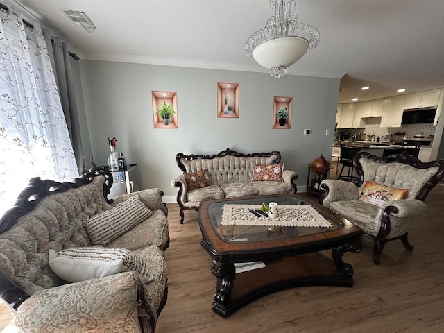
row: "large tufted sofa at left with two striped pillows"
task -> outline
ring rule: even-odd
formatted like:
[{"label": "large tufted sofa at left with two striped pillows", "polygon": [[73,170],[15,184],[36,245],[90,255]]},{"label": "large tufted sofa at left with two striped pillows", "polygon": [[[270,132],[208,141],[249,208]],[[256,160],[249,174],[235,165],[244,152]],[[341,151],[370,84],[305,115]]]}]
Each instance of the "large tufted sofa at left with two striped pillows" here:
[{"label": "large tufted sofa at left with two striped pillows", "polygon": [[[167,302],[160,189],[108,200],[112,175],[33,178],[0,219],[0,296],[20,332],[154,332]],[[112,235],[112,236],[111,236]]]}]

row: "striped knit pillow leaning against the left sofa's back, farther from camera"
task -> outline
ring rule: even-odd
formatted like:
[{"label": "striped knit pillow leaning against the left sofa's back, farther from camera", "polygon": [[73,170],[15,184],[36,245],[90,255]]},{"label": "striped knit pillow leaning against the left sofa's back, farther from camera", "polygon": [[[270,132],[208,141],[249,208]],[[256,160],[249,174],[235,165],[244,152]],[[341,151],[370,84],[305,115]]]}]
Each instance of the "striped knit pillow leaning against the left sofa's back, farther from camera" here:
[{"label": "striped knit pillow leaning against the left sofa's back, farther from camera", "polygon": [[151,214],[153,211],[142,203],[139,196],[130,196],[116,207],[92,216],[85,222],[85,228],[92,245],[105,246],[148,219]]}]

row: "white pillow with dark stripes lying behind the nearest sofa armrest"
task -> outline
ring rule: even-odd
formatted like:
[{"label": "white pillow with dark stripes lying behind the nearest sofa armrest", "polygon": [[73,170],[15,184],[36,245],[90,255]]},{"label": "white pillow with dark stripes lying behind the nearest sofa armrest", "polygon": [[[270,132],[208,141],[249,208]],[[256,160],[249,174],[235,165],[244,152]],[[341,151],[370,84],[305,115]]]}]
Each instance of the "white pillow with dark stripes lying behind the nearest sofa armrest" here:
[{"label": "white pillow with dark stripes lying behind the nearest sofa armrest", "polygon": [[103,278],[122,272],[136,271],[144,283],[154,279],[148,273],[144,260],[126,248],[101,248],[89,246],[68,248],[56,253],[49,250],[49,267],[59,278],[68,282],[80,282]]}]

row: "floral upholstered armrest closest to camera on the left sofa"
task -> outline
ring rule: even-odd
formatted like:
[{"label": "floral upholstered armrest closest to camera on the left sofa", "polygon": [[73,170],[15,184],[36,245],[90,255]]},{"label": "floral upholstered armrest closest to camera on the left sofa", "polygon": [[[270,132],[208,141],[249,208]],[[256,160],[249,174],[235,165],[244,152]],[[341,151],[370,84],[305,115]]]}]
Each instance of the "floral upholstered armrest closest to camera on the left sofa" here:
[{"label": "floral upholstered armrest closest to camera on the left sofa", "polygon": [[154,332],[155,313],[135,272],[38,291],[20,305],[24,332]]}]

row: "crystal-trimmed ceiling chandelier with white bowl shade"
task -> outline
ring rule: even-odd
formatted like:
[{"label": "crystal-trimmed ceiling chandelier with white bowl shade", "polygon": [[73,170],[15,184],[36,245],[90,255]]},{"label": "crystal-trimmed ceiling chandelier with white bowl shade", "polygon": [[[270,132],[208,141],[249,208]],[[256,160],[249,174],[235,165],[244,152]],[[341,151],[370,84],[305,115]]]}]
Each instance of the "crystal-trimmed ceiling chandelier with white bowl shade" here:
[{"label": "crystal-trimmed ceiling chandelier with white bowl shade", "polygon": [[287,74],[287,67],[319,44],[319,31],[309,24],[299,22],[295,0],[270,0],[275,15],[265,27],[248,37],[245,53],[270,75],[280,78]]}]

